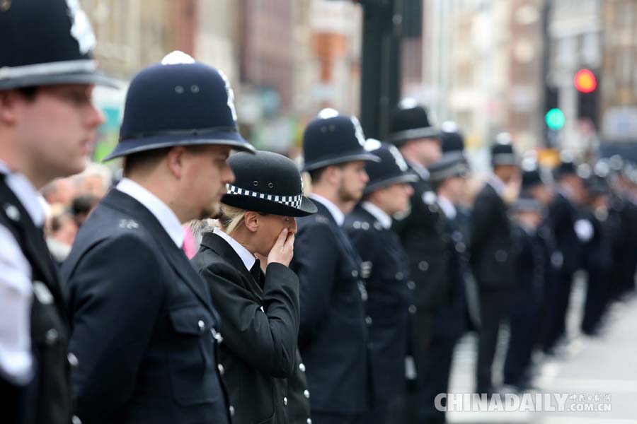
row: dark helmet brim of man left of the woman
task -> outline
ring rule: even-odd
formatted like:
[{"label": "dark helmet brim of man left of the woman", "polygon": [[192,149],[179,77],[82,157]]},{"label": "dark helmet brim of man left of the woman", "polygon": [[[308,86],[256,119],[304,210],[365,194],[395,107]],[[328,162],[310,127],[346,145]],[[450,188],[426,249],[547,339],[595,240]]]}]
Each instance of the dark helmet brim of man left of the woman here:
[{"label": "dark helmet brim of man left of the woman", "polygon": [[254,153],[255,148],[248,143],[236,131],[215,132],[212,134],[201,134],[193,136],[185,136],[183,134],[149,136],[140,139],[128,139],[117,143],[113,151],[103,159],[103,162],[120,158],[121,156],[131,155],[144,151],[156,150],[158,148],[166,148],[173,146],[230,146],[234,150]]}]

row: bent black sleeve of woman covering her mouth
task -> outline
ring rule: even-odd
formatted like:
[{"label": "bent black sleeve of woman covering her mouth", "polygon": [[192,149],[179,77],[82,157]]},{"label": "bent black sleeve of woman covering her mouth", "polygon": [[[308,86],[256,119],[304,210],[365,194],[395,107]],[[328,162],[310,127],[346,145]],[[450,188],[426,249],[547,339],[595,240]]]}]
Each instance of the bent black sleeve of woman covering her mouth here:
[{"label": "bent black sleeve of woman covering her mouth", "polygon": [[200,269],[222,316],[227,348],[272,377],[292,374],[299,331],[299,279],[282,264],[268,265],[263,310],[229,265],[214,262]]}]

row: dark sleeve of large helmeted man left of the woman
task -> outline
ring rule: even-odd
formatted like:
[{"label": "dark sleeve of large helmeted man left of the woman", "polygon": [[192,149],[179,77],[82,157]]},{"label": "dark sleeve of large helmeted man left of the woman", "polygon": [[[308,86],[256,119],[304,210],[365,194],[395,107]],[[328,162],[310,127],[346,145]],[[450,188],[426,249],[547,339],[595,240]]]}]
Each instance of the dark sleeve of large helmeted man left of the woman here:
[{"label": "dark sleeve of large helmeted man left of the woman", "polygon": [[132,234],[105,240],[68,278],[72,383],[88,423],[110,422],[132,395],[163,293],[155,249]]}]

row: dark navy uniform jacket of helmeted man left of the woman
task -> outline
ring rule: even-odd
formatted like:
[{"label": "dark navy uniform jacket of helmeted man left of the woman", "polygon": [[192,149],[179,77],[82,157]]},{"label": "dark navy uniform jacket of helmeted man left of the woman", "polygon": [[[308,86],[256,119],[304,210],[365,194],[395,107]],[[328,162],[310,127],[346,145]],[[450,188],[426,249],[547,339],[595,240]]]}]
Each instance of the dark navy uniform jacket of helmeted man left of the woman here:
[{"label": "dark navy uniform jacket of helmeted man left of the woman", "polygon": [[62,273],[82,423],[229,423],[210,292],[146,207],[112,189]]}]

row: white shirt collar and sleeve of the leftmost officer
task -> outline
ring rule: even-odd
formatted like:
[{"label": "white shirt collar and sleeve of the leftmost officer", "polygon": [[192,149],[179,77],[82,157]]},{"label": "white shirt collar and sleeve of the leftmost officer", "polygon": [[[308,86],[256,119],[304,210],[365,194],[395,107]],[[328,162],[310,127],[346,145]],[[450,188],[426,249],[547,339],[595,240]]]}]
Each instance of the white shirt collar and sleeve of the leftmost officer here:
[{"label": "white shirt collar and sleeve of the leftmost officer", "polygon": [[[6,175],[6,184],[33,223],[42,226],[44,211],[33,184],[24,175],[10,172],[2,162],[0,173]],[[0,246],[0,372],[13,384],[23,385],[30,381],[33,372],[30,339],[33,270],[13,234],[2,225]]]}]

